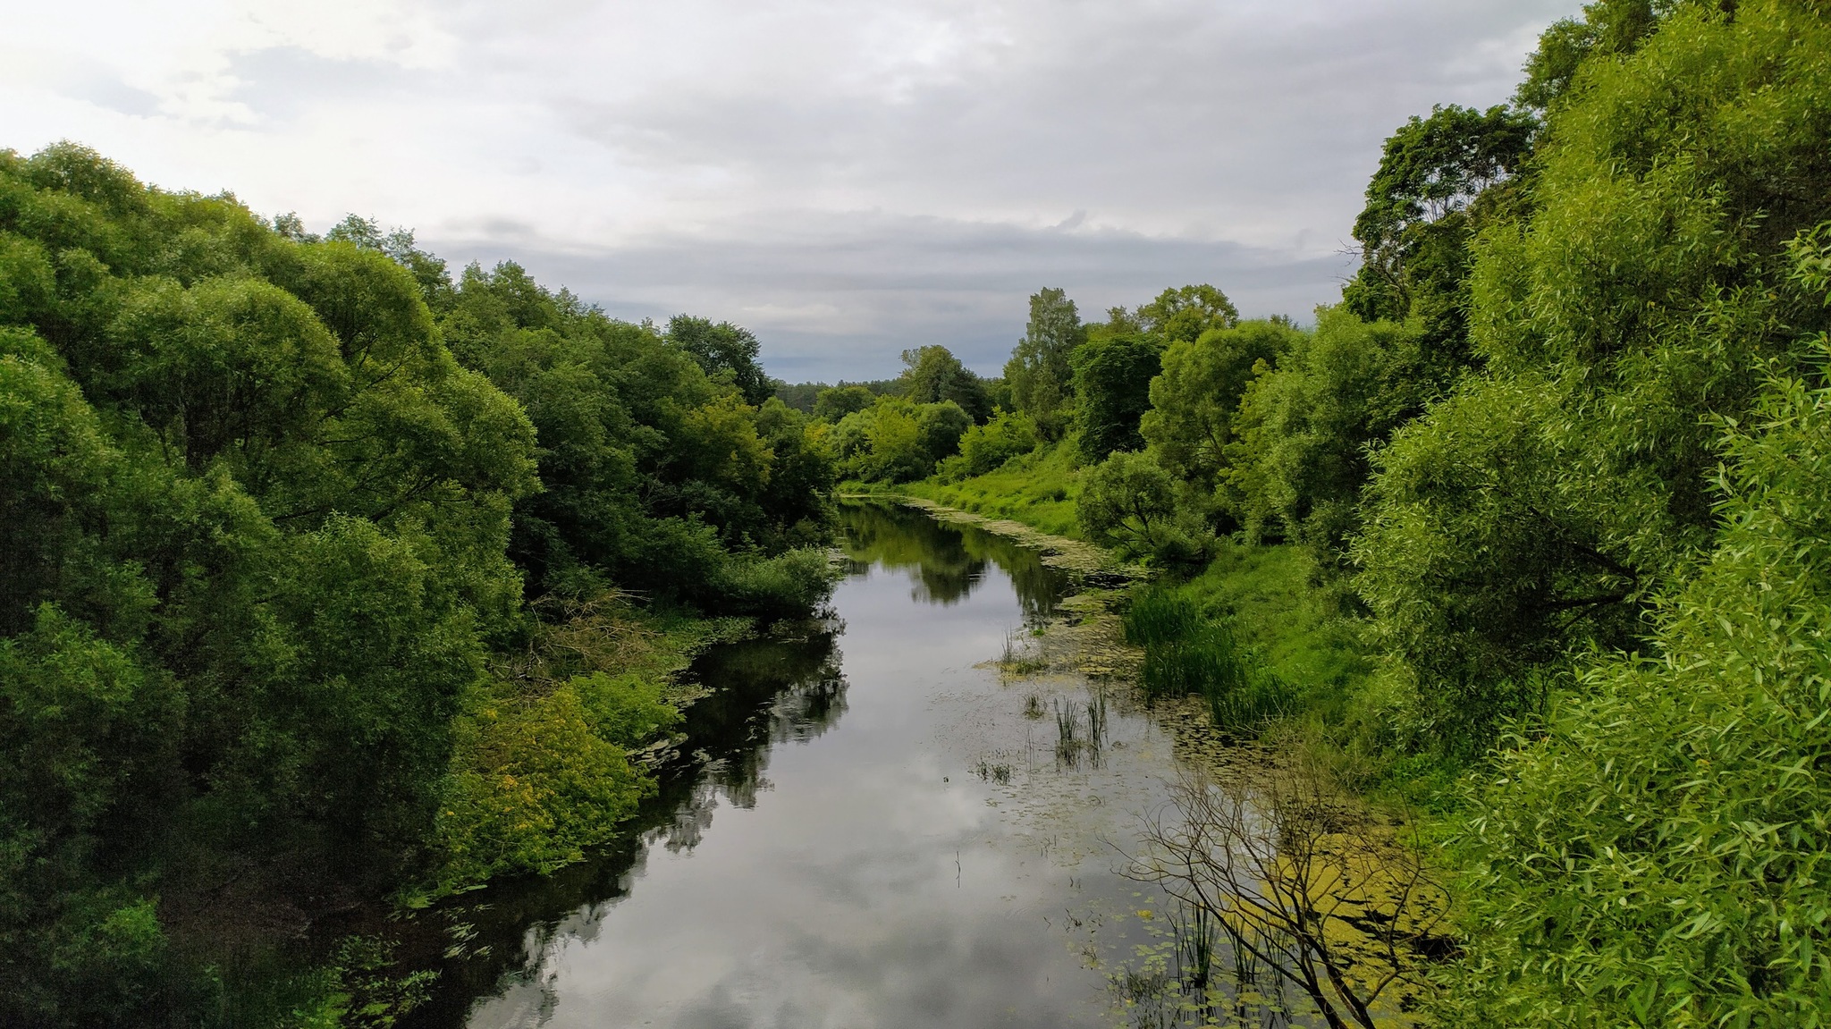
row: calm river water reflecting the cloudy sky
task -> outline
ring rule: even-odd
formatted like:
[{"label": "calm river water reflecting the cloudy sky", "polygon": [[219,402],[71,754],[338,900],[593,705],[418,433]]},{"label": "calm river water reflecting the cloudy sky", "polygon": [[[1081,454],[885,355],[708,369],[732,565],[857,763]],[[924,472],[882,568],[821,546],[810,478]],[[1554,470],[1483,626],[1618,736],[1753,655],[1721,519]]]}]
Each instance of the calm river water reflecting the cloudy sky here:
[{"label": "calm river water reflecting the cloudy sky", "polygon": [[848,507],[831,617],[709,652],[720,692],[621,851],[472,894],[414,1025],[1113,1025],[1155,936],[1117,873],[1166,734],[1102,687],[992,661],[1069,590],[1033,551]]}]

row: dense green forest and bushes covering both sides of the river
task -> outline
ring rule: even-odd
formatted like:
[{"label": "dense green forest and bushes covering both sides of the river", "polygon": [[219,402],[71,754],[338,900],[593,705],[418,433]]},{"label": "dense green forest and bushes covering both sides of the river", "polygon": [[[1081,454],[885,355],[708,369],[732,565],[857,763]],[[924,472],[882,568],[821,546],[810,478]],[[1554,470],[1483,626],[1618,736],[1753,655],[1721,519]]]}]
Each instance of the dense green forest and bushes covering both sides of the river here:
[{"label": "dense green forest and bushes covering both sides of the river", "polygon": [[[738,326],[0,152],[0,1022],[385,1018],[361,939],[231,972],[604,842],[685,655],[820,602],[846,482],[1152,566],[1177,688],[1419,811],[1436,1024],[1824,1024],[1831,15],[1589,4],[1397,126],[1353,238],[1309,320],[1040,289],[998,377],[785,385]],[[1258,624],[1227,580],[1280,560]]]}]

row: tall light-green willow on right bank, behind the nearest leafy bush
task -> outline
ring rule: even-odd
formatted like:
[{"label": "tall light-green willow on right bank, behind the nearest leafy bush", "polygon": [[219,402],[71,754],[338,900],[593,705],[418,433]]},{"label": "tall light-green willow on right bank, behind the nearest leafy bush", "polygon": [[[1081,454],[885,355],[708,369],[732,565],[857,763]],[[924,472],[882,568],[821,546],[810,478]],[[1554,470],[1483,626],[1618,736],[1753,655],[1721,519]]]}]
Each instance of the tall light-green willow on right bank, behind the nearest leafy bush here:
[{"label": "tall light-green willow on right bank, behind the nearest leafy bush", "polygon": [[1428,718],[1439,740],[1538,696],[1547,654],[1631,646],[1708,546],[1712,419],[1827,322],[1783,255],[1831,216],[1827,31],[1791,4],[1677,5],[1551,110],[1533,216],[1476,251],[1485,372],[1379,456],[1355,549],[1415,696],[1443,677],[1467,701]]}]

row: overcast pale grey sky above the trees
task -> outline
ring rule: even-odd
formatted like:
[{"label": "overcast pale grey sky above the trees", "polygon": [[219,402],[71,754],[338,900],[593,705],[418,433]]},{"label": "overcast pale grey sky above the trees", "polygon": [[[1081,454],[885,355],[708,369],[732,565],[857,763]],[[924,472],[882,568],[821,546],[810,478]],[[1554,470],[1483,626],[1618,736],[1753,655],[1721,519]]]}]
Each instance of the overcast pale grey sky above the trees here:
[{"label": "overcast pale grey sky above the trees", "polygon": [[615,317],[756,331],[789,381],[1027,297],[1210,282],[1311,319],[1381,141],[1507,101],[1576,0],[0,0],[0,148],[516,260]]}]

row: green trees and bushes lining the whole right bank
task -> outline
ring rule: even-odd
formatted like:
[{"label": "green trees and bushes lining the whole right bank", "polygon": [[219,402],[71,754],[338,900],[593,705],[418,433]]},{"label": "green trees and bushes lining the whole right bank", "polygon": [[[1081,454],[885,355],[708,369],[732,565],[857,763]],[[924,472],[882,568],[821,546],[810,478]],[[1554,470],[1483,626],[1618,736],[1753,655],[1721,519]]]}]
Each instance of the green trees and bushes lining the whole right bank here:
[{"label": "green trees and bushes lining the whole right bank", "polygon": [[[1602,0],[1525,71],[1386,141],[1313,330],[1044,289],[994,414],[921,467],[1071,483],[1172,573],[1307,555],[1373,672],[1216,710],[1463,776],[1437,1022],[1824,1025],[1831,9]],[[939,397],[903,394],[835,434],[923,439]],[[917,478],[857,430],[846,474]]]}]

